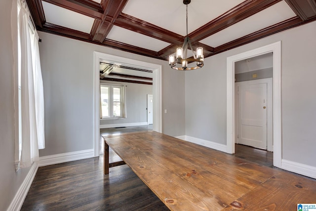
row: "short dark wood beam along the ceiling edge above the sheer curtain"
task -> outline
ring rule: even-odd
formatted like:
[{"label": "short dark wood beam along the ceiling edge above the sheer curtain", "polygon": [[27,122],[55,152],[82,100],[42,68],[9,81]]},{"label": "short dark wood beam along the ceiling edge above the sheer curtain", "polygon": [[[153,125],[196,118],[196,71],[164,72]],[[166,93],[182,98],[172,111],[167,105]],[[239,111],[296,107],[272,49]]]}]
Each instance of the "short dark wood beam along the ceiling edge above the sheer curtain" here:
[{"label": "short dark wood beam along the ceiling edge above the sheer curtain", "polygon": [[41,28],[42,25],[46,22],[41,0],[26,0],[26,2],[29,6],[30,13],[35,22],[35,25],[37,26],[37,28]]}]

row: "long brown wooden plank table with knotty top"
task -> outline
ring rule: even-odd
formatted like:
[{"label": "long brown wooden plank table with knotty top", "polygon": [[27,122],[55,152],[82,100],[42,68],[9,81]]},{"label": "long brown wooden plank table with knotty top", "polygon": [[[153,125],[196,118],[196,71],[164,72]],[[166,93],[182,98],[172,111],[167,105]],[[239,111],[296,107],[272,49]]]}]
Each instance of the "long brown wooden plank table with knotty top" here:
[{"label": "long brown wooden plank table with knotty top", "polygon": [[316,203],[316,181],[259,166],[155,131],[105,137],[109,146],[174,211],[294,211]]}]

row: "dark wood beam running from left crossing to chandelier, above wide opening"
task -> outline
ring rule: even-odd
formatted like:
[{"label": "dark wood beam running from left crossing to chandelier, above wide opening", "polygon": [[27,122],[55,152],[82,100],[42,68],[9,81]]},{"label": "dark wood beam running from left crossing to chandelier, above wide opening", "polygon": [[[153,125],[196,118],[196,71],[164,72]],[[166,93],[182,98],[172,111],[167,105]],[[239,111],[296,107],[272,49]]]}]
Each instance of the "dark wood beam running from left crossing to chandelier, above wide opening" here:
[{"label": "dark wood beam running from left crossing to chandelier, above wide opening", "polygon": [[158,40],[173,43],[183,44],[184,37],[168,30],[162,29],[156,25],[140,20],[133,16],[121,13],[115,20],[114,25],[128,29]]}]

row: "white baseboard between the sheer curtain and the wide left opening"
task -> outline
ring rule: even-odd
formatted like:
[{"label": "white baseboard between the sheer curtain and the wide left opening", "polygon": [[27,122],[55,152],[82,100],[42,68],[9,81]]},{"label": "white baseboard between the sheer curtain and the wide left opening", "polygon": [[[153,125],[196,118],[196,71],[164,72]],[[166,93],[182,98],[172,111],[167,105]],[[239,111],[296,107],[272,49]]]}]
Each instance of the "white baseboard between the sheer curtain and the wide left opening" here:
[{"label": "white baseboard between the sheer curtain and the wide left opening", "polygon": [[93,149],[82,150],[77,152],[68,152],[57,155],[49,155],[40,157],[39,166],[48,166],[53,164],[61,164],[70,161],[77,161],[81,159],[93,158],[94,151]]}]

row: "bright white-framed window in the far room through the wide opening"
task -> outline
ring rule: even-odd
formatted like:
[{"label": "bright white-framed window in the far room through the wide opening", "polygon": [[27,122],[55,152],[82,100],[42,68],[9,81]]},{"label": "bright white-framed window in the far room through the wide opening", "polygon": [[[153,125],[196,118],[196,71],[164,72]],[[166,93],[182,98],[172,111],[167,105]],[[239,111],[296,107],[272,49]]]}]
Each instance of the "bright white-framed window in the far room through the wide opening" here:
[{"label": "bright white-framed window in the far room through the wide opening", "polygon": [[124,85],[100,84],[102,118],[125,118]]}]

